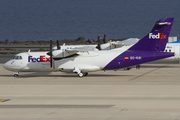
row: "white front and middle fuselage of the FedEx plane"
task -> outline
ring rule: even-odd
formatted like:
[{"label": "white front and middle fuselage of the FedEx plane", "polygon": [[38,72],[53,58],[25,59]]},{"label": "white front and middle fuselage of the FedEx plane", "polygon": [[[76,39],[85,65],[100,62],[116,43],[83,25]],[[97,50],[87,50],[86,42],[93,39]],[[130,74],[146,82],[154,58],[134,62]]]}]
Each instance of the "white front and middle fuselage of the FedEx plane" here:
[{"label": "white front and middle fuselage of the FedEx plane", "polygon": [[21,56],[22,59],[11,59],[4,64],[4,67],[10,71],[17,72],[72,72],[72,70],[76,68],[83,72],[91,72],[102,70],[110,61],[121,53],[121,51],[111,50],[81,52],[76,57],[53,60],[53,69],[50,69],[50,57],[46,55],[47,52],[25,52],[16,55]]}]

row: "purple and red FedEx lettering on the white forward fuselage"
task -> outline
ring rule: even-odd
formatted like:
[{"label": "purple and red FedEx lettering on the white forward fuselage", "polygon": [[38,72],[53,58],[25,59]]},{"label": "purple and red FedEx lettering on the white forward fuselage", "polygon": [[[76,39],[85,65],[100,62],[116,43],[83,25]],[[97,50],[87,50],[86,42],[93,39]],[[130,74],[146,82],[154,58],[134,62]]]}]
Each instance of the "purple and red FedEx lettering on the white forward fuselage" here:
[{"label": "purple and red FedEx lettering on the white forward fuselage", "polygon": [[28,56],[28,62],[50,62],[50,57],[46,57],[45,55],[38,58]]}]

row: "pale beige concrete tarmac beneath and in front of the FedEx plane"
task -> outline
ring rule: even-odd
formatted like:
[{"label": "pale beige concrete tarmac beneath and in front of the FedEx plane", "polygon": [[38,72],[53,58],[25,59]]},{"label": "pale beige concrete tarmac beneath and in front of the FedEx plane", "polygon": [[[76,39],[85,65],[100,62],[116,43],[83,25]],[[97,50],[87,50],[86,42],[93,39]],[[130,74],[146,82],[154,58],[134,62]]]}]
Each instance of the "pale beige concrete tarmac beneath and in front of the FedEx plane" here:
[{"label": "pale beige concrete tarmac beneath and in front of the FedEx plane", "polygon": [[79,78],[13,77],[0,64],[0,120],[180,120],[180,65],[143,64]]}]

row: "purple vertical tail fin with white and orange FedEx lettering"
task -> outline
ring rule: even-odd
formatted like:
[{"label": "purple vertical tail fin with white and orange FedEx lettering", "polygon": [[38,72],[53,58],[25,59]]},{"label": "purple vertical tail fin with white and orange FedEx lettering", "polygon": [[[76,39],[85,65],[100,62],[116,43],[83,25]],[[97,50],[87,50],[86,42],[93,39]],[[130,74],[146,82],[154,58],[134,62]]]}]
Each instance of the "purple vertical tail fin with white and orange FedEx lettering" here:
[{"label": "purple vertical tail fin with white and orange FedEx lettering", "polygon": [[164,51],[174,18],[163,18],[156,22],[153,29],[129,50]]}]

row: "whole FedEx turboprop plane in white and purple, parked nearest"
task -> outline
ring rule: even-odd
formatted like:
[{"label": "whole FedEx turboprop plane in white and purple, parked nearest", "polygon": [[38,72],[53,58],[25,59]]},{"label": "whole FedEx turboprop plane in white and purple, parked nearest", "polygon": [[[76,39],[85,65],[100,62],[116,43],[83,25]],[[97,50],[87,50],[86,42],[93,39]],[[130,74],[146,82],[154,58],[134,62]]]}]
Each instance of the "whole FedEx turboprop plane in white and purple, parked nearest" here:
[{"label": "whole FedEx turboprop plane in white and purple, parked nearest", "polygon": [[69,55],[64,57],[60,50],[52,51],[50,40],[49,52],[19,53],[3,67],[14,71],[14,76],[18,76],[19,72],[62,71],[77,73],[79,77],[83,77],[87,76],[88,72],[114,70],[172,57],[174,53],[163,51],[173,21],[174,18],[160,19],[150,33],[128,49],[123,47],[103,51],[69,49],[67,50]]}]

